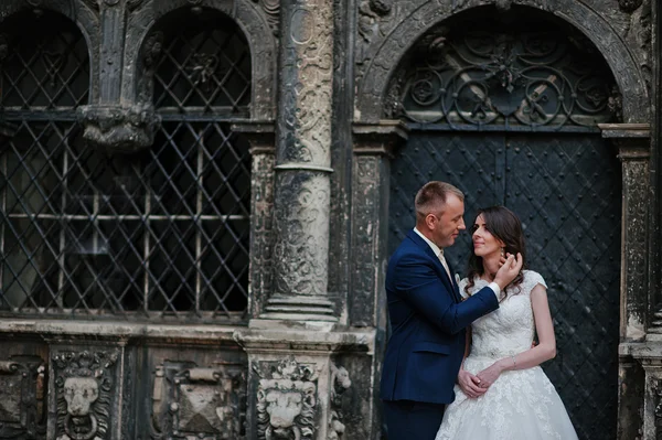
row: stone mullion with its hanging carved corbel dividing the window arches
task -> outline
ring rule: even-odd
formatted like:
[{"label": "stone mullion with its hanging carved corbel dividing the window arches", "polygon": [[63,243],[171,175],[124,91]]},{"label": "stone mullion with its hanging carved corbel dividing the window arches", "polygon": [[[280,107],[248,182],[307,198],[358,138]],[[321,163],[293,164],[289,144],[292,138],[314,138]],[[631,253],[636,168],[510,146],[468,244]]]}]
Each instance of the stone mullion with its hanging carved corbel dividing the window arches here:
[{"label": "stone mullion with its hanging carved corbel dividing the window arches", "polygon": [[[141,0],[104,0],[95,4],[98,8],[100,22],[100,56],[98,57],[99,76],[93,77],[93,87],[98,89],[96,101],[78,108],[83,124],[83,137],[93,146],[107,151],[135,152],[153,143],[154,130],[159,117],[149,98],[140,100],[138,96],[122,96],[125,72],[131,72],[135,65],[125,65],[125,35],[127,14]],[[160,44],[147,45],[147,56],[142,62],[160,55]],[[156,49],[154,49],[156,47]],[[150,67],[150,66],[148,66]],[[153,65],[151,66],[153,68]],[[132,76],[130,76],[132,78]]]}]

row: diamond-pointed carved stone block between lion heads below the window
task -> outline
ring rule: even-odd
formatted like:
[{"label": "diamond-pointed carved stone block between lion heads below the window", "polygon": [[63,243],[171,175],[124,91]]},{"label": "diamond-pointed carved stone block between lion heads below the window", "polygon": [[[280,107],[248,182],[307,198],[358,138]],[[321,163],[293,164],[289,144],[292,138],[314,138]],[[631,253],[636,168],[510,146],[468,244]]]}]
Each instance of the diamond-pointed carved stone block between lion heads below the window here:
[{"label": "diamond-pointed carved stone block between lion heads below the window", "polygon": [[157,367],[152,393],[152,439],[241,438],[246,406],[242,365],[199,368],[166,362]]}]

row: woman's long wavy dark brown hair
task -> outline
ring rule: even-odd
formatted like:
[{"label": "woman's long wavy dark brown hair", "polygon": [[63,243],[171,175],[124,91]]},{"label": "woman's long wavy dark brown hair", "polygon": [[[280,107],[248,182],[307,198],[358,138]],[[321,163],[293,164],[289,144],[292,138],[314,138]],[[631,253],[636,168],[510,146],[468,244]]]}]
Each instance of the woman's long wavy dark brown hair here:
[{"label": "woman's long wavy dark brown hair", "polygon": [[[478,210],[478,214],[476,214],[476,218],[479,215],[482,215],[483,221],[485,222],[485,229],[490,232],[495,238],[503,242],[505,245],[504,251],[506,254],[517,255],[520,253],[523,258],[522,270],[526,267],[526,246],[524,245],[524,232],[522,229],[522,222],[520,218],[510,211],[505,206],[490,206],[485,208]],[[471,228],[473,230],[473,227]],[[473,234],[473,232],[471,233]],[[524,279],[522,275],[522,270],[515,277],[515,279],[508,285],[506,288],[519,287]],[[482,257],[478,257],[473,253],[473,244],[471,245],[471,253],[469,256],[469,265],[467,269],[467,280],[468,283],[465,287],[465,292],[469,293],[469,290],[474,286],[473,279],[477,276],[484,275],[484,267],[482,264]],[[504,296],[502,301],[508,296],[504,289]]]}]

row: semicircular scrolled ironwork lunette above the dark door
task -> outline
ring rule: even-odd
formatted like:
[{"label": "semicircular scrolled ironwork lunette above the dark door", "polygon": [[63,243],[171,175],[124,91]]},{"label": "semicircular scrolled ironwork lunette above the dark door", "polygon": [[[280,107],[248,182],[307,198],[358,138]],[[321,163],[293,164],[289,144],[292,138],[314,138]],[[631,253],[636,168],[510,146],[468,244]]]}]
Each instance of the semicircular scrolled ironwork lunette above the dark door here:
[{"label": "semicircular scrolled ironwork lunette above the dark door", "polygon": [[528,20],[472,17],[437,26],[403,62],[391,86],[392,116],[463,130],[595,129],[611,121],[618,97],[608,66],[585,36],[559,25],[536,22],[532,30]]}]

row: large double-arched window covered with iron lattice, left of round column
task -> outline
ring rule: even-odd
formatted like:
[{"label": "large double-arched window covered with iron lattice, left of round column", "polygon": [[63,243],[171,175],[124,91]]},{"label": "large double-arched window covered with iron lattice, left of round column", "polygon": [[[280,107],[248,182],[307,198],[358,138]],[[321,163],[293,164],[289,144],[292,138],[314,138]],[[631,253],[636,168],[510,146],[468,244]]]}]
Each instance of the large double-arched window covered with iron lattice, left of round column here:
[{"label": "large double-arched window covered with iron lattice, left of round column", "polygon": [[159,21],[142,87],[161,126],[151,148],[110,154],[76,124],[89,88],[84,39],[58,17],[34,20],[17,18],[17,31],[35,32],[8,36],[2,64],[17,127],[0,155],[2,309],[243,320],[250,165],[229,124],[249,115],[250,56],[238,26],[213,10]]}]

